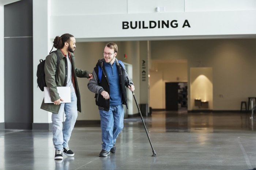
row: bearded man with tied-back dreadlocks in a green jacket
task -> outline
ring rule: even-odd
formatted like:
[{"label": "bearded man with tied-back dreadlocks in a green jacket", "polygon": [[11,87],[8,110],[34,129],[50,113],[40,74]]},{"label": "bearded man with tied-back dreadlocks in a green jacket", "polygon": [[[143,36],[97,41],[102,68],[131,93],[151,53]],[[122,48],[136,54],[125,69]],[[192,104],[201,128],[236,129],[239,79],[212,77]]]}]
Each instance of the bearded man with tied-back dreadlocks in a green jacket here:
[{"label": "bearded man with tied-back dreadlocks in a green jacket", "polygon": [[[88,80],[93,78],[90,72],[75,67],[75,56],[73,54],[76,47],[75,44],[76,40],[71,34],[56,36],[53,46],[60,56],[60,64],[57,71],[56,53],[50,53],[45,59],[45,82],[49,88],[53,103],[44,103],[43,100],[41,109],[52,112],[54,159],[63,159],[63,152],[69,157],[74,156],[74,152],[68,147],[68,141],[78,116],[77,111],[81,112],[80,93],[76,77],[86,77]],[[70,86],[71,103],[61,103],[63,99],[60,98],[57,92],[57,86]],[[62,124],[63,112],[66,117],[64,128]]]}]

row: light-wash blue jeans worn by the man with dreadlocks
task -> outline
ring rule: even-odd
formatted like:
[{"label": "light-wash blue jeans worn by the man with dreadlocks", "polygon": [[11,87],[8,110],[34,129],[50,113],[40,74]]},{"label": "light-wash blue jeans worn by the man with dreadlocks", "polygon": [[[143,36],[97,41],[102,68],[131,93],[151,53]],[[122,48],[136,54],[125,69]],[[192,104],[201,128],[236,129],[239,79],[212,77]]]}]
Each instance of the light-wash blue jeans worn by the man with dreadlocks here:
[{"label": "light-wash blue jeans worn by the man with dreadlocks", "polygon": [[[63,113],[66,117],[64,127],[62,124]],[[71,93],[71,103],[61,103],[58,114],[52,113],[53,145],[56,150],[62,151],[63,147],[68,147],[77,116],[77,98],[76,93],[73,92]]]}]

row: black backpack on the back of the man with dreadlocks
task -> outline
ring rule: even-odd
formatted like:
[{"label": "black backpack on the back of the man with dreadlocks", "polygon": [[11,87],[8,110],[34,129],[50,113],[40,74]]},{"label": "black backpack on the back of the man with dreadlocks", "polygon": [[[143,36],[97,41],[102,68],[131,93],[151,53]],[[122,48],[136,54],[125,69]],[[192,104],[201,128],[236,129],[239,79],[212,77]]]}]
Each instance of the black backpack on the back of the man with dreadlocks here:
[{"label": "black backpack on the back of the man with dreadlocks", "polygon": [[[56,63],[56,72],[59,69],[60,64],[60,56],[57,51],[52,51],[57,55],[57,63]],[[44,87],[46,87],[45,83],[45,60],[39,59],[40,63],[37,65],[37,87],[40,88],[41,91],[44,91]]]}]

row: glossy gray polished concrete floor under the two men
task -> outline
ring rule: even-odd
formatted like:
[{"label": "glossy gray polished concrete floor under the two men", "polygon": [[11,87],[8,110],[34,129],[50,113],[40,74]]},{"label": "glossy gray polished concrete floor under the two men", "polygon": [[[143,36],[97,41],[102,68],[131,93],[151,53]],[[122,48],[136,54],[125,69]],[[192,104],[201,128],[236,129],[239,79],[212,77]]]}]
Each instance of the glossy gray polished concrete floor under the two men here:
[{"label": "glossy gray polished concrete floor under the two men", "polygon": [[116,154],[98,157],[99,125],[75,127],[74,157],[54,161],[52,132],[0,131],[1,170],[248,170],[256,167],[256,120],[250,113],[153,111],[125,119]]}]

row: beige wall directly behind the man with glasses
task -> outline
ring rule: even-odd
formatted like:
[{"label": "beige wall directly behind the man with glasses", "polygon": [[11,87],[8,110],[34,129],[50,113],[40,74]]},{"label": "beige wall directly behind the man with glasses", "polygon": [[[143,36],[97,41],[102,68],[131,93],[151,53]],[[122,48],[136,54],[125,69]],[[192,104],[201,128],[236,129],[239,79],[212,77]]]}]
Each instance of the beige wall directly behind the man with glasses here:
[{"label": "beige wall directly behind the man with glasses", "polygon": [[[77,42],[75,59],[76,67],[93,72],[98,59],[103,58],[102,52],[107,42]],[[132,64],[133,82],[139,86],[139,42],[116,42],[118,45],[117,59]],[[124,59],[127,54],[127,59]],[[95,104],[95,93],[90,92],[87,88],[87,78],[78,78],[79,90],[81,94],[82,114],[78,114],[78,120],[99,120],[98,107]],[[135,90],[136,99],[139,102],[139,88]],[[138,113],[135,103],[133,103],[133,114]]]}]

